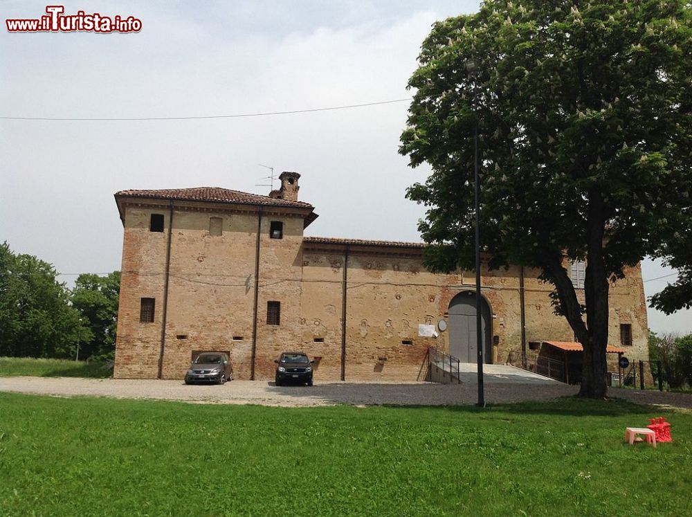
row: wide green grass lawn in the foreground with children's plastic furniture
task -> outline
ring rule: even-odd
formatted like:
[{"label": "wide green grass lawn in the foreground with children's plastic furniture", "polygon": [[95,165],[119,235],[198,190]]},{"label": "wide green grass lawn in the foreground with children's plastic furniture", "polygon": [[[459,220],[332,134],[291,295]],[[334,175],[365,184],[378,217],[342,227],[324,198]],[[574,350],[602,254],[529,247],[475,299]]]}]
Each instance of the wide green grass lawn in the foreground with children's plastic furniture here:
[{"label": "wide green grass lawn in the foreground with children's plastic furniture", "polygon": [[0,515],[690,515],[671,444],[623,401],[266,408],[0,393]]}]

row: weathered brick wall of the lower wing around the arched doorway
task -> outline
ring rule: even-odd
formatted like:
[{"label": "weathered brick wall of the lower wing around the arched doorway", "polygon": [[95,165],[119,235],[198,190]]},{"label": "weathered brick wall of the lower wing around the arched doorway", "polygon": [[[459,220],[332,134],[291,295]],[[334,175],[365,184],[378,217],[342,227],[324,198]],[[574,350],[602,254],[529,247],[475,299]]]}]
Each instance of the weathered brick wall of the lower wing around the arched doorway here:
[{"label": "weathered brick wall of the lower wing around the arched doorway", "polygon": [[[382,250],[379,250],[381,253]],[[309,266],[304,278],[312,282],[324,278],[322,271],[334,270],[331,297],[314,305],[304,304],[313,311],[316,320],[331,321],[336,331],[340,325],[340,279],[343,255],[316,251],[304,253]],[[334,265],[327,268],[326,265]],[[497,336],[493,345],[495,363],[507,361],[510,350],[521,350],[519,268],[507,271],[482,271],[482,293],[489,302],[493,318],[491,335]],[[321,274],[320,274],[321,273]],[[562,316],[556,316],[549,299],[549,286],[537,279],[538,271],[525,271],[525,303],[528,341],[574,341],[574,333]],[[638,280],[637,280],[638,279]],[[347,379],[407,379],[419,377],[428,346],[449,350],[448,332],[439,332],[438,338],[419,337],[419,323],[437,325],[447,319],[449,303],[457,293],[473,290],[475,275],[466,271],[457,275],[436,275],[425,271],[418,258],[383,258],[372,251],[350,251],[347,282]],[[641,298],[630,296],[641,289],[641,271],[633,268],[628,278],[612,287],[617,305],[612,304],[610,315],[610,343],[619,345],[619,324],[637,320],[632,326],[635,336],[628,356],[646,359],[646,307]],[[322,287],[327,290],[327,282]],[[340,286],[339,286],[340,287]],[[311,290],[315,290],[311,287]],[[583,297],[583,290],[579,291]],[[333,311],[332,306],[336,309]],[[330,314],[330,313],[335,313]],[[626,316],[623,316],[626,315]],[[334,332],[336,346],[325,347],[329,362],[336,370],[340,357],[340,333]],[[402,341],[412,341],[403,345]],[[385,358],[385,361],[380,361]],[[322,359],[325,361],[327,358]],[[611,362],[617,361],[617,355]],[[332,378],[336,378],[334,375]]]}]

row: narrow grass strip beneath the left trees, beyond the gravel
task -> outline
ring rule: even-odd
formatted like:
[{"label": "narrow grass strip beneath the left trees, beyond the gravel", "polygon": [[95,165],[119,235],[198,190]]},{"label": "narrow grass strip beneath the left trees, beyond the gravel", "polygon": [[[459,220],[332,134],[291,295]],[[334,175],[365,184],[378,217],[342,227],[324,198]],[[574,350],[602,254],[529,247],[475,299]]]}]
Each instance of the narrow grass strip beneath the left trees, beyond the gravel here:
[{"label": "narrow grass strip beneath the left trees, beyond the gravel", "polygon": [[103,363],[69,361],[67,359],[33,359],[31,357],[0,357],[0,377],[111,377],[112,370]]}]

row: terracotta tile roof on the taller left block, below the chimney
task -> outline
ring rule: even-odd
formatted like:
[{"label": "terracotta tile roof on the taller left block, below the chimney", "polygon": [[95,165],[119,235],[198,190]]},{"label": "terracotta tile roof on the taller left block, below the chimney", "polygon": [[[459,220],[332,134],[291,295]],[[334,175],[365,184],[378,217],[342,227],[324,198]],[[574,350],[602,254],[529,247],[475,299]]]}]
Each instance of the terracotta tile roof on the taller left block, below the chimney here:
[{"label": "terracotta tile roof on the taller left block, below the chimney", "polygon": [[120,190],[117,197],[148,197],[154,199],[174,199],[179,201],[211,201],[212,203],[237,203],[247,205],[295,206],[313,208],[310,203],[275,199],[259,194],[248,194],[239,190],[219,187],[166,188],[163,190]]}]

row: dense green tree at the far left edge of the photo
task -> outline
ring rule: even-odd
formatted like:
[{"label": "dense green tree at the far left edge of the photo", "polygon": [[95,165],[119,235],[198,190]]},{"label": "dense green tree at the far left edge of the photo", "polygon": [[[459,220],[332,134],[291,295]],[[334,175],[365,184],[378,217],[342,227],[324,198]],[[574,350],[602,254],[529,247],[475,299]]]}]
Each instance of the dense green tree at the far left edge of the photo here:
[{"label": "dense green tree at the far left edge of the photo", "polygon": [[51,264],[0,244],[0,355],[73,356],[80,312],[56,274]]}]

